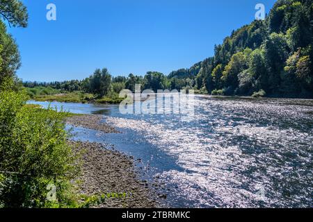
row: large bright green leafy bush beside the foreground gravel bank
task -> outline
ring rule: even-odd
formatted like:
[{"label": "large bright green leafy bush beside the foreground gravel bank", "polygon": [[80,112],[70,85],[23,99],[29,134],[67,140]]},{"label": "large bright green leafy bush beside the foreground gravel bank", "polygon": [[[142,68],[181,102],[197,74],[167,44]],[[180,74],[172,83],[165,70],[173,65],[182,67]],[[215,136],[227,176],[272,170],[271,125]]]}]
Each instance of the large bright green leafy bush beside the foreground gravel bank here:
[{"label": "large bright green leafy bush beside the foreground gravel bank", "polygon": [[[77,207],[79,157],[67,145],[64,112],[25,105],[26,91],[0,92],[0,207]],[[47,199],[47,186],[56,200]]]}]

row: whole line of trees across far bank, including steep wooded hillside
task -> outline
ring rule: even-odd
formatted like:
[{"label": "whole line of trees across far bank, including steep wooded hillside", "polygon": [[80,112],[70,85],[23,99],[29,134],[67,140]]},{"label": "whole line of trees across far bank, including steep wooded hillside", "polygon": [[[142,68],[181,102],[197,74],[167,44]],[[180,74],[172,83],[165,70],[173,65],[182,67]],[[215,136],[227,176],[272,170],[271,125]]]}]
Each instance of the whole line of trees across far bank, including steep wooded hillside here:
[{"label": "whole line of trees across far bank, including steep wooded hillside", "polygon": [[[126,88],[195,89],[198,93],[238,96],[313,98],[313,1],[278,0],[265,20],[255,20],[215,46],[214,56],[189,69],[168,76],[148,71],[112,78],[97,69],[84,80],[62,83],[24,83],[26,87],[50,87],[43,94],[83,91],[110,96]],[[37,91],[38,91],[37,90]],[[35,92],[35,91],[33,91]],[[31,92],[31,96],[33,93]]]}]

